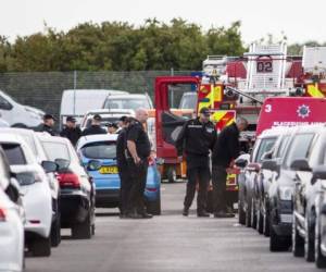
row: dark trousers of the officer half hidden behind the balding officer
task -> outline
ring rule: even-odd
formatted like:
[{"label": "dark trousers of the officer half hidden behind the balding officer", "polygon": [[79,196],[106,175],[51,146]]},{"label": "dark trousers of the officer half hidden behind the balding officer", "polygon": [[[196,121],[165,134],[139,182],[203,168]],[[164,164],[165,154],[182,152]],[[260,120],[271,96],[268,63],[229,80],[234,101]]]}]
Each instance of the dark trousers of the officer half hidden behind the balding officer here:
[{"label": "dark trousers of the officer half hidden behind the balding officer", "polygon": [[131,181],[127,163],[118,165],[118,176],[121,182],[120,200],[121,213],[124,214],[128,210],[129,194],[131,189]]}]

